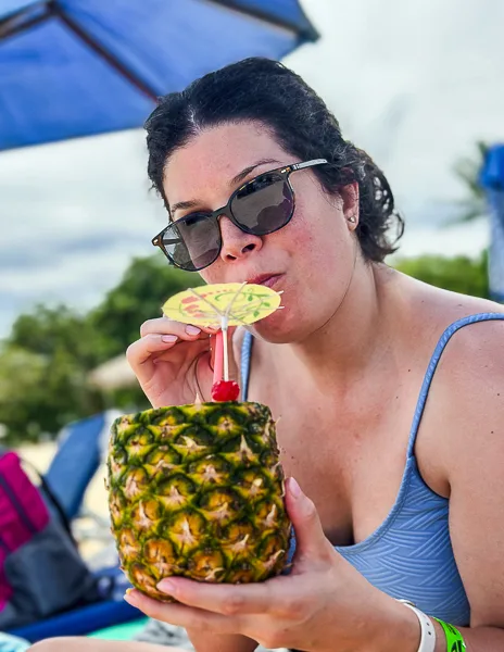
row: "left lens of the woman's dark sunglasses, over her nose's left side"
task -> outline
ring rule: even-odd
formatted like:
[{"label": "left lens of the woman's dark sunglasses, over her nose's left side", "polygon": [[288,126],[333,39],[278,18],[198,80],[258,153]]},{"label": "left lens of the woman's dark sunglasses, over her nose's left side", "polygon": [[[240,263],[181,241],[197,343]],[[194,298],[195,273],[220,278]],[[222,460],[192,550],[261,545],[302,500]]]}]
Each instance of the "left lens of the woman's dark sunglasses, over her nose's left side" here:
[{"label": "left lens of the woman's dark sunglasses, over her nose's left side", "polygon": [[217,221],[204,213],[181,217],[164,231],[163,246],[177,267],[203,269],[217,260],[220,251]]}]

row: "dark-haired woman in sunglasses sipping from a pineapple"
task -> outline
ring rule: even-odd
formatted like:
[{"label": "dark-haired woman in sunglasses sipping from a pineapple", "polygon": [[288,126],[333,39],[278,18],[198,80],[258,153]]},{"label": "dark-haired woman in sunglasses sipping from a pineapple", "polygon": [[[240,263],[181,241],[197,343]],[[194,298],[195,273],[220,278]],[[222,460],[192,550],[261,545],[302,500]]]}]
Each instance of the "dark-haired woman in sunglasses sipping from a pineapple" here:
[{"label": "dark-haired woman in sunglasses sipping from a pineapple", "polygon": [[[128,602],[186,627],[198,652],[503,650],[502,306],[383,263],[402,225],[383,174],[279,63],[202,77],[147,131],[175,224],[154,243],[207,283],[284,291],[234,348],[243,398],[281,415],[297,551],[262,585],[178,578],[160,587],[181,604]],[[128,360],[153,406],[209,399],[207,329],[153,318],[140,335]]]}]

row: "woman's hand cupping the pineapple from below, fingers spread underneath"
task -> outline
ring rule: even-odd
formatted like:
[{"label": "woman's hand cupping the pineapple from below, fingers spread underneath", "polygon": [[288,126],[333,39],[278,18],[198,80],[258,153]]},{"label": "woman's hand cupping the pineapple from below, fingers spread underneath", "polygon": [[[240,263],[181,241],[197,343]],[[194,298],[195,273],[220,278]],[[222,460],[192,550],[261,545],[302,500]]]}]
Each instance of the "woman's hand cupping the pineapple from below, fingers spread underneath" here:
[{"label": "woman's hand cupping the pineapple from below, fingers spread underneath", "polygon": [[313,502],[290,478],[286,496],[297,534],[290,575],[262,584],[202,584],[171,577],[160,590],[181,604],[131,591],[147,615],[207,634],[241,634],[265,648],[316,652],[415,652],[415,614],[373,587],[326,539]]}]

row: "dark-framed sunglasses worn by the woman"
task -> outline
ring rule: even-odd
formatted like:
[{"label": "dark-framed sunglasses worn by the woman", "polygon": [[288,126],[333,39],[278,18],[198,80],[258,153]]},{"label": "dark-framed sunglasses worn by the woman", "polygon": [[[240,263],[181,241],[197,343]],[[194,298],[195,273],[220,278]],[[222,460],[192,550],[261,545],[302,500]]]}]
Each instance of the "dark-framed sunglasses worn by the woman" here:
[{"label": "dark-framed sunglasses worn by the woman", "polygon": [[289,176],[323,163],[327,163],[326,159],[314,159],[264,172],[235,190],[222,209],[191,213],[171,222],[152,239],[152,244],[180,269],[204,269],[220,253],[223,238],[218,220],[223,215],[245,234],[266,236],[279,230],[294,214],[295,196]]}]

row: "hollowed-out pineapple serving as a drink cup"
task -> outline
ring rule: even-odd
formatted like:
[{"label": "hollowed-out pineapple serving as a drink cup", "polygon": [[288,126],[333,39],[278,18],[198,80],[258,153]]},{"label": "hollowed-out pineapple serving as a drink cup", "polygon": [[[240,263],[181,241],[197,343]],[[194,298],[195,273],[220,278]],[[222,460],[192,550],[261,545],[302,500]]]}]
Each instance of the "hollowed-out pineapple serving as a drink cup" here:
[{"label": "hollowed-out pineapple serving as a drink cup", "polygon": [[131,584],[156,600],[171,575],[262,581],[286,562],[290,522],[275,422],[260,403],[147,410],[111,431],[112,532]]}]

